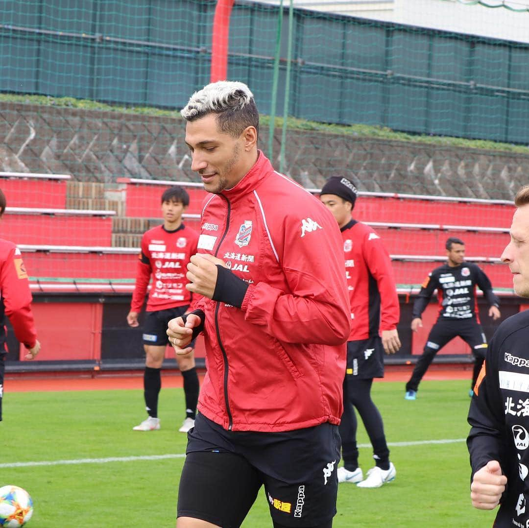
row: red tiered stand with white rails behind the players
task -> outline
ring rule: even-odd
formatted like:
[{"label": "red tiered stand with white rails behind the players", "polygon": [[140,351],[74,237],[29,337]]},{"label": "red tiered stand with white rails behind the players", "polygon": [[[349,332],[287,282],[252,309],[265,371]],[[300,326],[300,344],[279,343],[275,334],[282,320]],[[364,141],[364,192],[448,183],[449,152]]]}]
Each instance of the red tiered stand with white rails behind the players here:
[{"label": "red tiered stand with white rails behind the players", "polygon": [[[52,335],[57,335],[54,332],[60,331],[57,314],[61,314],[61,324],[66,322],[69,327],[63,333],[60,350],[50,345],[43,347],[42,368],[52,369],[56,361],[69,362],[68,368],[125,368],[127,360],[108,359],[110,348],[121,347],[123,333],[118,327],[123,323],[116,322],[115,329],[111,324],[102,330],[104,320],[114,317],[105,310],[113,302],[125,303],[126,307],[128,297],[124,296],[134,288],[141,236],[161,223],[159,201],[163,190],[171,185],[186,188],[190,207],[184,218],[199,230],[206,197],[202,184],[118,178],[115,184],[105,186],[72,181],[67,175],[3,174],[6,176],[0,176],[0,185],[10,207],[0,229],[3,238],[15,241],[22,251],[32,291],[44,296],[80,296],[76,302],[69,302],[68,297],[59,302],[52,297],[45,303],[36,303],[36,316],[47,327],[44,342],[49,338],[51,343]],[[319,193],[319,189],[308,190]],[[428,272],[445,261],[444,243],[448,236],[458,236],[466,242],[467,259],[484,269],[498,295],[513,296],[510,274],[498,259],[508,241],[513,211],[510,202],[390,193],[360,195],[354,217],[371,225],[384,240],[393,262],[403,313],[411,306],[411,298]],[[427,307],[426,325],[433,321],[436,312],[434,303]],[[86,331],[70,331],[70,327],[77,328],[79,321],[90,329],[85,336],[89,346],[82,353],[74,340]],[[410,352],[421,353],[423,345],[420,336],[410,335],[406,358],[409,360]],[[119,353],[125,357],[126,347]],[[468,350],[459,340],[443,350],[440,361],[453,360],[454,354],[459,354],[459,360],[468,358]],[[202,344],[198,345],[197,356],[203,356]],[[171,357],[170,350],[166,357]],[[20,353],[17,359],[21,358]],[[22,363],[16,368],[27,368]],[[135,365],[129,362],[132,364]]]}]

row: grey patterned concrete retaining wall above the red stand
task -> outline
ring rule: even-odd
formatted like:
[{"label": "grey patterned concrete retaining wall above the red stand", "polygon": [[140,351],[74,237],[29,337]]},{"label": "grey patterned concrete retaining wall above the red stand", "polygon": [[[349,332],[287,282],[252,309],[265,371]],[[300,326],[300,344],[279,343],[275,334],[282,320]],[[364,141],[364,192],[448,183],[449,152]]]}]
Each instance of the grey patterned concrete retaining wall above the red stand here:
[{"label": "grey patterned concrete retaining wall above the red stand", "polygon": [[[3,171],[106,184],[123,176],[196,180],[177,118],[4,103],[0,123]],[[277,169],[280,134],[272,157]],[[266,149],[266,128],[260,137]],[[345,175],[360,190],[512,199],[529,183],[529,149],[513,154],[289,130],[285,172],[305,187]]]}]

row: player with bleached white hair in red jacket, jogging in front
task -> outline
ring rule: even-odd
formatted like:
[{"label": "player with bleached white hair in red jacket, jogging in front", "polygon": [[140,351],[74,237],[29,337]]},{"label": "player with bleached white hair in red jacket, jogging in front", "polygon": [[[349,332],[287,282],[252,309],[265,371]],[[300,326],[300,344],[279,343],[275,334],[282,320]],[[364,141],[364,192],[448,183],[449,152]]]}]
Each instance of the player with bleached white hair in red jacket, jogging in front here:
[{"label": "player with bleached white hair in red jacket, jogging in front", "polygon": [[265,487],[273,526],[336,513],[350,309],[332,214],[257,148],[250,89],[222,81],[181,114],[203,205],[177,354],[204,333],[207,374],[178,496],[179,528],[240,526]]}]

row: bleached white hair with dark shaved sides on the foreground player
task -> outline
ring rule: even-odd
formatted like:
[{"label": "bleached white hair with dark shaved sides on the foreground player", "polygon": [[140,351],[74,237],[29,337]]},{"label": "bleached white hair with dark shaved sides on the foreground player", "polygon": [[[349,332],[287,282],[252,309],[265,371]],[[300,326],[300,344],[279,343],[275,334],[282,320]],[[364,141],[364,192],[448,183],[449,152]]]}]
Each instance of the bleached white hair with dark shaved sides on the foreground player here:
[{"label": "bleached white hair with dark shaved sides on the foreground player", "polygon": [[221,132],[238,138],[248,126],[259,133],[259,112],[250,88],[244,83],[221,80],[191,95],[180,114],[186,121],[195,121],[208,114],[217,114]]}]

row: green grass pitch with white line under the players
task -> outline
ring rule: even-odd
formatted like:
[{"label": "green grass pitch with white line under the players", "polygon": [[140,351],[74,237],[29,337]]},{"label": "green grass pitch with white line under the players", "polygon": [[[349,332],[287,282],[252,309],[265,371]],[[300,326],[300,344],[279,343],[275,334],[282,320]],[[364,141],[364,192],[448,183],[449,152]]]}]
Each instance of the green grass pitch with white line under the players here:
[{"label": "green grass pitch with white line under the players", "polygon": [[[75,383],[75,381],[72,381]],[[466,438],[468,381],[423,381],[415,402],[404,400],[403,383],[375,383],[373,399],[384,417],[388,442]],[[5,384],[0,423],[0,486],[14,484],[34,501],[31,528],[175,526],[183,457],[108,461],[108,458],[178,455],[186,435],[183,390],[162,389],[162,429],[132,431],[144,418],[139,390],[10,393]],[[359,442],[368,439],[360,426]],[[391,446],[397,469],[393,483],[379,489],[342,484],[334,528],[490,526],[495,512],[470,505],[466,444]],[[102,459],[87,461],[87,459]],[[81,461],[12,467],[18,462]],[[370,448],[361,466],[373,465]],[[260,492],[244,528],[269,527]]]}]

